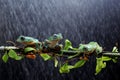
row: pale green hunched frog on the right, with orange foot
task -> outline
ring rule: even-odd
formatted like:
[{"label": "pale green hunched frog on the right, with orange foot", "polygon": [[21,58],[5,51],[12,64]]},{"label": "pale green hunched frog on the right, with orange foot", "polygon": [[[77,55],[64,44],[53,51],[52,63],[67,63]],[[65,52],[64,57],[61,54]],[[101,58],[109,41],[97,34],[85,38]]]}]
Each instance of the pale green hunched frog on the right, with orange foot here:
[{"label": "pale green hunched frog on the right, with orange foot", "polygon": [[79,53],[70,56],[69,58],[73,58],[76,56],[79,56],[81,53],[83,53],[83,56],[80,57],[80,59],[88,60],[89,55],[92,53],[99,54],[103,51],[102,47],[97,42],[89,42],[88,44],[79,44],[78,48]]}]

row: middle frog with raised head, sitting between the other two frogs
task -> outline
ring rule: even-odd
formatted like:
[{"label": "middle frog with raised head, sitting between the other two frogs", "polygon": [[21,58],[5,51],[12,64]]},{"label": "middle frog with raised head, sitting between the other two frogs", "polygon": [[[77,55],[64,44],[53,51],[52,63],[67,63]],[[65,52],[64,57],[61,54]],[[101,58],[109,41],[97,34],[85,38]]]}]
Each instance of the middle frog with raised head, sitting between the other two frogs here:
[{"label": "middle frog with raised head, sitting between the other two frogs", "polygon": [[63,36],[61,33],[53,34],[48,39],[45,39],[44,44],[46,47],[53,49],[58,45],[58,43],[61,39],[63,39]]}]

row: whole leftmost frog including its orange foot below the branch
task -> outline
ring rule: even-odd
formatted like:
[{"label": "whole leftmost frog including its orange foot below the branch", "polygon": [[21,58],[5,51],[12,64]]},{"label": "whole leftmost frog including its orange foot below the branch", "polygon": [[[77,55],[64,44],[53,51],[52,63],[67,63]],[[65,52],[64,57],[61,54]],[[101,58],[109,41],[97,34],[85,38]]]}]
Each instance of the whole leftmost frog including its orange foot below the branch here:
[{"label": "whole leftmost frog including its orange foot below the branch", "polygon": [[35,59],[35,53],[41,53],[42,43],[38,39],[21,35],[17,38],[16,41],[24,44],[25,47],[33,47],[36,49],[35,52],[28,52],[25,54],[26,58]]}]

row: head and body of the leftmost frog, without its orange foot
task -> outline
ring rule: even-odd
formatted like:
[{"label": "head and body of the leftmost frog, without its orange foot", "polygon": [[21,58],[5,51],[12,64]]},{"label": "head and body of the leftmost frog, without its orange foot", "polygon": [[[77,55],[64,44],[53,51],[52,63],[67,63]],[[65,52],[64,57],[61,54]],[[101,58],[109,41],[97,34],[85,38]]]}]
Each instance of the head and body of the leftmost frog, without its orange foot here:
[{"label": "head and body of the leftmost frog, without its orange foot", "polygon": [[42,48],[41,42],[36,38],[21,35],[17,38],[16,41],[24,44],[25,46],[35,46],[37,50]]}]

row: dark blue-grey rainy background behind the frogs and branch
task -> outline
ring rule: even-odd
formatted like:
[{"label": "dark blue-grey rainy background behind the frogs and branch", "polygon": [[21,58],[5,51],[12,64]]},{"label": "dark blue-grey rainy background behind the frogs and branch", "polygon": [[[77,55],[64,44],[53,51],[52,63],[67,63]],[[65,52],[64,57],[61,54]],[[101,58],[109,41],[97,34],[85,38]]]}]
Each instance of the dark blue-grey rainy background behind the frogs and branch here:
[{"label": "dark blue-grey rainy background behind the frogs and branch", "polygon": [[[97,41],[110,51],[120,43],[120,0],[0,0],[0,45],[19,35],[42,41],[54,33],[62,33],[74,47]],[[59,74],[52,61],[40,57],[0,60],[0,80],[119,80],[120,60],[108,62],[97,76],[94,72],[95,57],[69,74]]]}]

